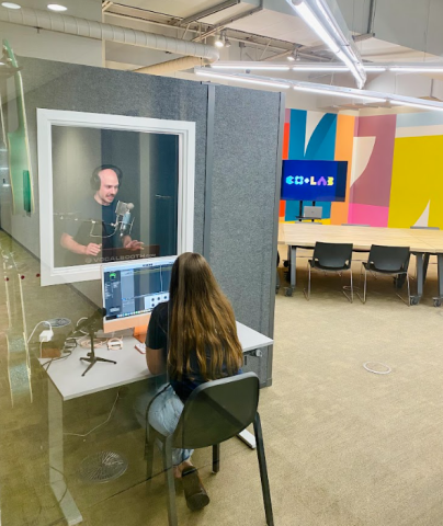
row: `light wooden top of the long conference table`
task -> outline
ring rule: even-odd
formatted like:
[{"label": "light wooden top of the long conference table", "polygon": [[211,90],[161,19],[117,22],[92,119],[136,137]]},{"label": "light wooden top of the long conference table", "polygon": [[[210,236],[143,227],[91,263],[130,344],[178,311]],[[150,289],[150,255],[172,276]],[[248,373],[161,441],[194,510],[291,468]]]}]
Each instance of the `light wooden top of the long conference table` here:
[{"label": "light wooden top of the long conference table", "polygon": [[353,243],[354,250],[370,250],[372,244],[409,247],[412,252],[443,253],[443,231],[409,228],[345,227],[314,222],[279,225],[279,243],[314,248],[317,241]]}]

